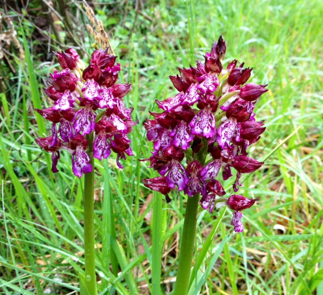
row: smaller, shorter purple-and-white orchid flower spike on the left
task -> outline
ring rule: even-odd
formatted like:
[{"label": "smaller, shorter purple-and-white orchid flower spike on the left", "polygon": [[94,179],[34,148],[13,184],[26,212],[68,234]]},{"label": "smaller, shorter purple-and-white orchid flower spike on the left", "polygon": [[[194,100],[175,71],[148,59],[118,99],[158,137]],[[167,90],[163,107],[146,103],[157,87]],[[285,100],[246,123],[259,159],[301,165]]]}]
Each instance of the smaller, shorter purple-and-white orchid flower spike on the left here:
[{"label": "smaller, shorter purple-and-white orchid flower spike on the left", "polygon": [[[86,135],[95,133],[93,156],[99,160],[110,156],[111,150],[119,159],[132,156],[127,134],[137,122],[131,120],[133,109],[126,109],[121,101],[131,84],[116,84],[120,64],[107,50],[93,52],[90,65],[85,68],[73,48],[57,52],[62,71],[50,75],[51,85],[44,89],[53,106],[36,111],[52,122],[51,136],[38,137],[37,144],[52,154],[52,172],[58,172],[60,150],[72,154],[72,169],[76,176],[89,173],[93,167],[86,153]],[[57,124],[59,128],[57,129]],[[60,136],[60,138],[59,138]]]}]

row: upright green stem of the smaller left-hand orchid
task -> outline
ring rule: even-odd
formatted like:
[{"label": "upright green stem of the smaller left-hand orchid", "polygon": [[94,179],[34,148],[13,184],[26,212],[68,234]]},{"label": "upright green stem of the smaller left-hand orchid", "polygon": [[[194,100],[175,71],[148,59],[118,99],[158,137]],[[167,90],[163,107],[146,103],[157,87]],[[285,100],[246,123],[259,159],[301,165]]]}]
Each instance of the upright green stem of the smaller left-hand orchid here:
[{"label": "upright green stem of the smaller left-hand orchid", "polygon": [[85,283],[89,295],[97,295],[94,249],[94,158],[93,132],[86,136],[89,141],[88,155],[92,171],[84,175],[84,253]]}]

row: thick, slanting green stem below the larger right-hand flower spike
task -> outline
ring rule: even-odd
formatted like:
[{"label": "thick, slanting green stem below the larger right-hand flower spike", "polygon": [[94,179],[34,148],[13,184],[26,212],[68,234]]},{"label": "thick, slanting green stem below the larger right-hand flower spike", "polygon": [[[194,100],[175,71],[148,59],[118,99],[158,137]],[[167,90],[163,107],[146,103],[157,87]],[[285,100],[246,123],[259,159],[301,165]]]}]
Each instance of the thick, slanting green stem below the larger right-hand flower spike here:
[{"label": "thick, slanting green stem below the larger right-hand flower spike", "polygon": [[187,295],[196,236],[199,194],[188,197],[174,295]]}]

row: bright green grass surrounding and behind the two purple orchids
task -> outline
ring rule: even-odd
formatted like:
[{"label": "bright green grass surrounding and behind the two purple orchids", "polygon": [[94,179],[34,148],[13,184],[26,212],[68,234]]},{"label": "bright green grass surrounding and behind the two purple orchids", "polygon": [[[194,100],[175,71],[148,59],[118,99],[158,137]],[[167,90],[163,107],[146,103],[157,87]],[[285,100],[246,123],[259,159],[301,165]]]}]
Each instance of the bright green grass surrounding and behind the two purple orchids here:
[{"label": "bright green grass surrounding and behind the two purple orchids", "polygon": [[[178,73],[176,67],[203,60],[222,34],[224,64],[244,61],[254,68],[252,82],[269,84],[255,110],[266,131],[250,156],[270,157],[242,178],[239,193],[259,199],[244,211],[243,234],[231,230],[230,210],[199,210],[190,294],[323,295],[321,1],[148,1],[139,13],[130,4],[114,14],[110,9],[96,7],[106,30],[114,29],[123,79],[133,83],[126,104],[134,106],[139,124],[131,134],[134,156],[123,161],[124,170],[116,168],[114,156],[95,164],[98,290],[131,295],[173,290],[186,196],[174,192],[170,204],[161,204],[160,195],[150,198],[141,179],[155,175],[138,161],[152,150],[142,122],[149,110],[157,110],[155,99],[175,94],[168,76]],[[77,29],[85,31],[86,19],[77,10],[72,8],[80,23],[75,38]],[[84,273],[83,181],[73,175],[64,152],[60,172],[49,173],[50,157],[34,142],[39,132],[49,134],[50,124],[33,108],[39,108],[39,99],[49,106],[43,81],[57,64],[42,64],[46,53],[37,48],[44,41],[31,41],[34,28],[26,19],[21,27],[16,22],[16,30],[25,61],[12,51],[15,73],[1,62],[6,79],[0,93],[0,293],[68,294],[79,291],[78,273]],[[92,42],[85,34],[81,44],[87,53]],[[228,195],[231,184],[224,182]],[[154,235],[160,243],[151,242]]]}]

